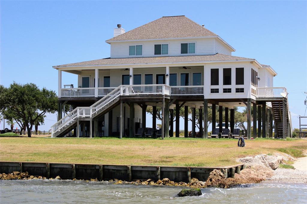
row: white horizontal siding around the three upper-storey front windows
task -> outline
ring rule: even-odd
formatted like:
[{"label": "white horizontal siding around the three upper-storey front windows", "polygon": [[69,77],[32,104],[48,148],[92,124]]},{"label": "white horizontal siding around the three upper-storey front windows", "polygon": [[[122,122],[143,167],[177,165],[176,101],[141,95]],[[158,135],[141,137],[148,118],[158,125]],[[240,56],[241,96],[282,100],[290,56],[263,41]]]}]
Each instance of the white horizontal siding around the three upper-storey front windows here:
[{"label": "white horizontal siding around the three upper-storey front windows", "polygon": [[[204,39],[185,39],[185,40],[153,40],[153,41],[138,41],[138,42],[118,42],[111,43],[111,58],[125,58],[129,57],[129,45],[142,44],[143,57],[155,56],[178,56],[181,55],[181,43],[195,42],[196,55],[212,55],[214,54],[213,38]],[[169,55],[154,55],[154,45],[168,43]],[[133,56],[135,57],[135,56]]]}]

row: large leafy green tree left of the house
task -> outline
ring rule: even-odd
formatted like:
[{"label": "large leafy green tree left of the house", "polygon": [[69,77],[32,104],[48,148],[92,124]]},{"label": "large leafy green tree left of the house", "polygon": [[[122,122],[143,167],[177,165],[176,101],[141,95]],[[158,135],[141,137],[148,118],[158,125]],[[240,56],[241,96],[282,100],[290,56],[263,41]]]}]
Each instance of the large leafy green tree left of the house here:
[{"label": "large leafy green tree left of the house", "polygon": [[14,82],[8,88],[1,85],[0,90],[0,111],[22,120],[28,130],[28,137],[31,137],[32,127],[37,120],[57,110],[56,93],[46,88],[39,89],[33,83],[21,85]]}]

